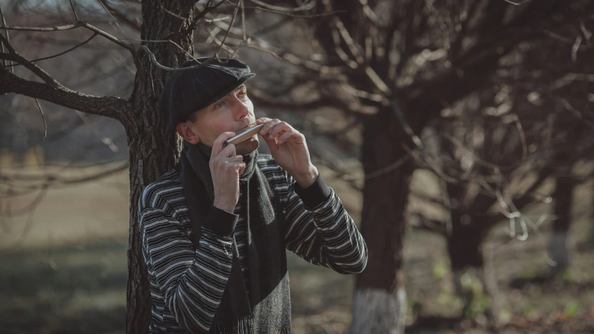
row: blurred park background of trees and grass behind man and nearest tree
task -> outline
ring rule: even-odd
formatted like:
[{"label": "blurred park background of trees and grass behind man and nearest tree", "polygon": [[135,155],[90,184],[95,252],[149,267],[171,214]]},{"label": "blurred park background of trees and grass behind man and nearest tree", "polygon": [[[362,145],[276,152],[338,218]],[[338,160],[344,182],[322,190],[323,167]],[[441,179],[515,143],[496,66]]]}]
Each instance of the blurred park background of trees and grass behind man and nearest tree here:
[{"label": "blurred park background of trees and grass behind man and nearest tree", "polygon": [[78,17],[103,33],[0,29],[0,333],[125,333],[143,134],[5,74],[47,83],[35,60],[70,90],[129,99],[138,67],[104,33],[180,47],[141,35],[143,10],[187,21],[194,56],[248,63],[256,117],[305,134],[361,227],[359,276],[288,253],[294,333],[381,317],[398,333],[594,332],[591,1],[201,0],[198,19],[143,2],[0,1],[5,28]]}]

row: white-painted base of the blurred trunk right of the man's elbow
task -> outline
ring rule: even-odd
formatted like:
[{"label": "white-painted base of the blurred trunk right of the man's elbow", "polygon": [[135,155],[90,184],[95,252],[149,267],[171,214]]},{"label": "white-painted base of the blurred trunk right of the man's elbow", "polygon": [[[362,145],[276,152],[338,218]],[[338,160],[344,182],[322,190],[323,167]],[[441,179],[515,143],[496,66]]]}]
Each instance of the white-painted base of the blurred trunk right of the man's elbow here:
[{"label": "white-painted base of the blurred trunk right of the man's elbow", "polygon": [[402,334],[405,331],[406,291],[355,289],[351,334]]}]

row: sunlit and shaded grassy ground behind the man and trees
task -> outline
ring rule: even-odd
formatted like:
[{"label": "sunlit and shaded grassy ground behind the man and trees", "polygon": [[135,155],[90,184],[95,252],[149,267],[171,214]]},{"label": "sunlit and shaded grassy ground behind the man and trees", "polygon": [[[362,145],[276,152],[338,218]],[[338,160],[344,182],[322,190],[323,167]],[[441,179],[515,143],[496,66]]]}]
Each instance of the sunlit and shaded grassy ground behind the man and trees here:
[{"label": "sunlit and shaded grassy ground behind the man and trees", "polygon": [[[359,193],[320,168],[358,221]],[[34,172],[31,172],[34,173]],[[70,172],[73,173],[73,172]],[[81,173],[90,173],[88,170]],[[74,173],[73,173],[74,175]],[[0,333],[124,333],[128,232],[127,172],[100,182],[52,188],[33,216],[0,221]],[[548,232],[526,241],[495,228],[485,247],[497,278],[499,319],[459,319],[444,240],[412,230],[406,241],[407,333],[593,333],[591,193],[581,189],[570,232],[571,264],[552,280]],[[31,197],[10,201],[17,212]],[[9,202],[0,198],[7,212]],[[289,254],[293,333],[347,333],[353,276]],[[467,275],[470,286],[472,275]],[[475,289],[476,291],[476,289]],[[480,301],[487,300],[478,291]]]}]

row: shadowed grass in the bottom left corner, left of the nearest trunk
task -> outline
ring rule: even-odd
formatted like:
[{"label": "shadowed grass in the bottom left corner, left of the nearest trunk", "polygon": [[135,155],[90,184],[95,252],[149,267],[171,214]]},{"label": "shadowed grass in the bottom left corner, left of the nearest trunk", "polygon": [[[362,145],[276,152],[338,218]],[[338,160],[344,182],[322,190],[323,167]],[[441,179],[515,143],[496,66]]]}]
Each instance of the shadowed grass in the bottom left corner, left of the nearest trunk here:
[{"label": "shadowed grass in the bottom left corner, left of the nearest trunk", "polygon": [[124,333],[127,246],[0,255],[2,333]]}]

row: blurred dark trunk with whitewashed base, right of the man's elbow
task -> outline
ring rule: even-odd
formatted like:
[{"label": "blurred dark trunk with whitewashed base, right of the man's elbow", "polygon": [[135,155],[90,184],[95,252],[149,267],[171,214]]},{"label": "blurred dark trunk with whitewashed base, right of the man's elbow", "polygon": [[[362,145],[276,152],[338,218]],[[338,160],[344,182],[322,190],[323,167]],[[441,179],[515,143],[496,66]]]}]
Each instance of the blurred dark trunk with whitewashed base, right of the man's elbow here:
[{"label": "blurred dark trunk with whitewashed base, right of the man's elbow", "polygon": [[[361,234],[368,247],[365,271],[357,276],[351,333],[403,333],[406,291],[403,247],[412,163],[386,168],[406,156],[400,122],[382,109],[366,122],[362,161],[366,179]],[[377,175],[377,170],[384,173]],[[391,169],[391,170],[390,170]]]}]

